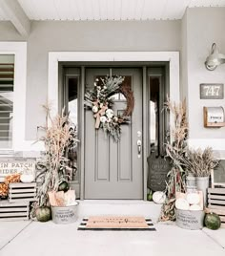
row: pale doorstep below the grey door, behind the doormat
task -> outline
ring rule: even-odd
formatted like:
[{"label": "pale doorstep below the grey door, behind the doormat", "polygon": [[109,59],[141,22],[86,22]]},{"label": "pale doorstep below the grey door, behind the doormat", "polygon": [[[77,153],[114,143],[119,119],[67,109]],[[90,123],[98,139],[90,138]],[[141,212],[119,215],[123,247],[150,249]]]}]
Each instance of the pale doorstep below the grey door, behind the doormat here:
[{"label": "pale doorstep below the grey door, behind the doormat", "polygon": [[143,216],[157,222],[162,204],[141,200],[84,200],[77,201],[78,218],[89,216]]}]

